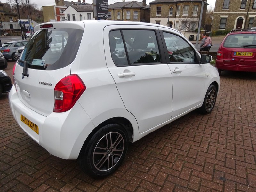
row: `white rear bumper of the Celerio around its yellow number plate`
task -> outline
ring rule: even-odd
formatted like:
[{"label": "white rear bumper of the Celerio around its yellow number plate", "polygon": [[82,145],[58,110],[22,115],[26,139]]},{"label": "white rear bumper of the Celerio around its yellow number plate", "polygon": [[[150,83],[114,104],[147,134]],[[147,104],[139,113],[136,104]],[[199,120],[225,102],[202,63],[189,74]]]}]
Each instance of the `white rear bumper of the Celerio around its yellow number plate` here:
[{"label": "white rear bumper of the Celerio around its yellow number plate", "polygon": [[[20,127],[50,154],[62,159],[77,159],[85,139],[94,129],[79,102],[67,112],[52,112],[49,116],[43,116],[25,106],[13,86],[9,93],[9,104]],[[38,134],[21,121],[21,114],[38,125]]]}]

